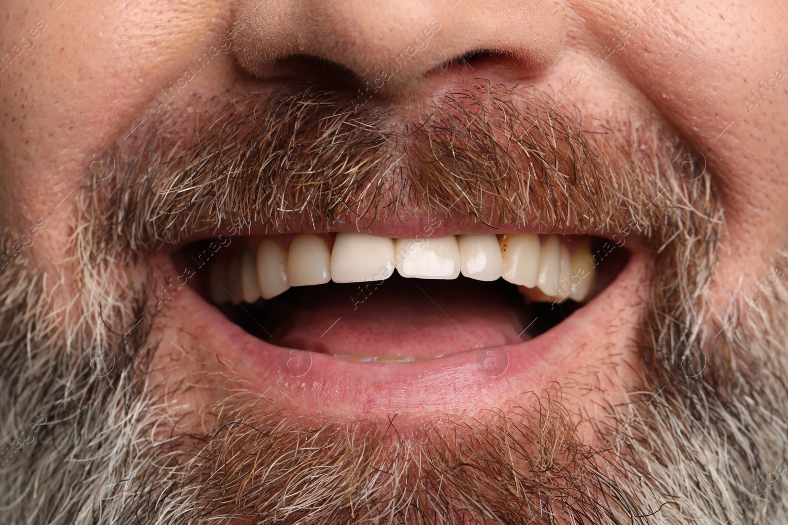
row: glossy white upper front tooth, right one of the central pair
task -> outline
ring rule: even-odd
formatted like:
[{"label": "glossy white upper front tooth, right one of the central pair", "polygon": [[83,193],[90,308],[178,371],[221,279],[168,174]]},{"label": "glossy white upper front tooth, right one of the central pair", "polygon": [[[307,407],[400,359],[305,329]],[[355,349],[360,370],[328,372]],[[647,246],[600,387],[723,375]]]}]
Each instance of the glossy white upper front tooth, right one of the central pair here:
[{"label": "glossy white upper front tooth, right one of the central pair", "polygon": [[459,250],[454,235],[440,238],[398,238],[396,270],[403,277],[457,279]]}]

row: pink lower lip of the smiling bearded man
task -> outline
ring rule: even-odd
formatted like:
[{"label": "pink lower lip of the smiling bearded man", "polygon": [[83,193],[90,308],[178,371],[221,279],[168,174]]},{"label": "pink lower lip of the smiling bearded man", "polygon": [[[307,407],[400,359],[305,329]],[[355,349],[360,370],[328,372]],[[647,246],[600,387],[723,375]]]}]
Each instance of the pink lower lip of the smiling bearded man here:
[{"label": "pink lower lip of the smiling bearded man", "polygon": [[[167,273],[174,272],[171,263],[167,266]],[[233,324],[188,286],[168,301],[169,320],[180,321],[250,394],[263,394],[299,415],[383,419],[469,414],[504,409],[515,402],[511,400],[522,400],[523,393],[563,383],[582,363],[604,358],[598,354],[605,346],[600,335],[611,320],[620,324],[622,308],[630,306],[627,298],[637,297],[645,268],[645,255],[634,253],[615,286],[530,341],[411,363],[355,362],[271,345]]]}]

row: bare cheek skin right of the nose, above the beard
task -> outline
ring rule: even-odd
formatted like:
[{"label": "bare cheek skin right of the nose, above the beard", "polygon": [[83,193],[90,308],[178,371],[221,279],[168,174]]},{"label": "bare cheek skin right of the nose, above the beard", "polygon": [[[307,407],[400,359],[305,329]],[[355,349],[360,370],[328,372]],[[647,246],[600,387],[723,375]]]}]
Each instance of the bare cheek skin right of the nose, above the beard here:
[{"label": "bare cheek skin right of the nose, above the beard", "polygon": [[589,20],[585,28],[596,46],[626,20],[637,22],[616,52],[615,67],[718,174],[730,238],[716,285],[734,290],[741,268],[748,269],[746,277],[768,272],[765,261],[788,241],[788,84],[780,83],[751,112],[745,104],[761,81],[788,70],[781,64],[788,59],[782,31],[788,7],[765,0],[713,7],[659,0],[644,12],[628,3],[572,2]]}]

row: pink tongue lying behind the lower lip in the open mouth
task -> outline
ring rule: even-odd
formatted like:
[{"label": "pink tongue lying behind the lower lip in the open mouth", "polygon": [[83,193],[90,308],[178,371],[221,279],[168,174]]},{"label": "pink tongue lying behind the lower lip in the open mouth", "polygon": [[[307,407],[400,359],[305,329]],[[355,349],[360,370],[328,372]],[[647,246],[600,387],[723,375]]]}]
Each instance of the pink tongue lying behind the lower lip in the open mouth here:
[{"label": "pink tongue lying behind the lower lip in the open mouth", "polygon": [[439,356],[522,342],[522,296],[501,279],[404,279],[299,287],[269,301],[262,324],[278,346],[380,357]]}]

